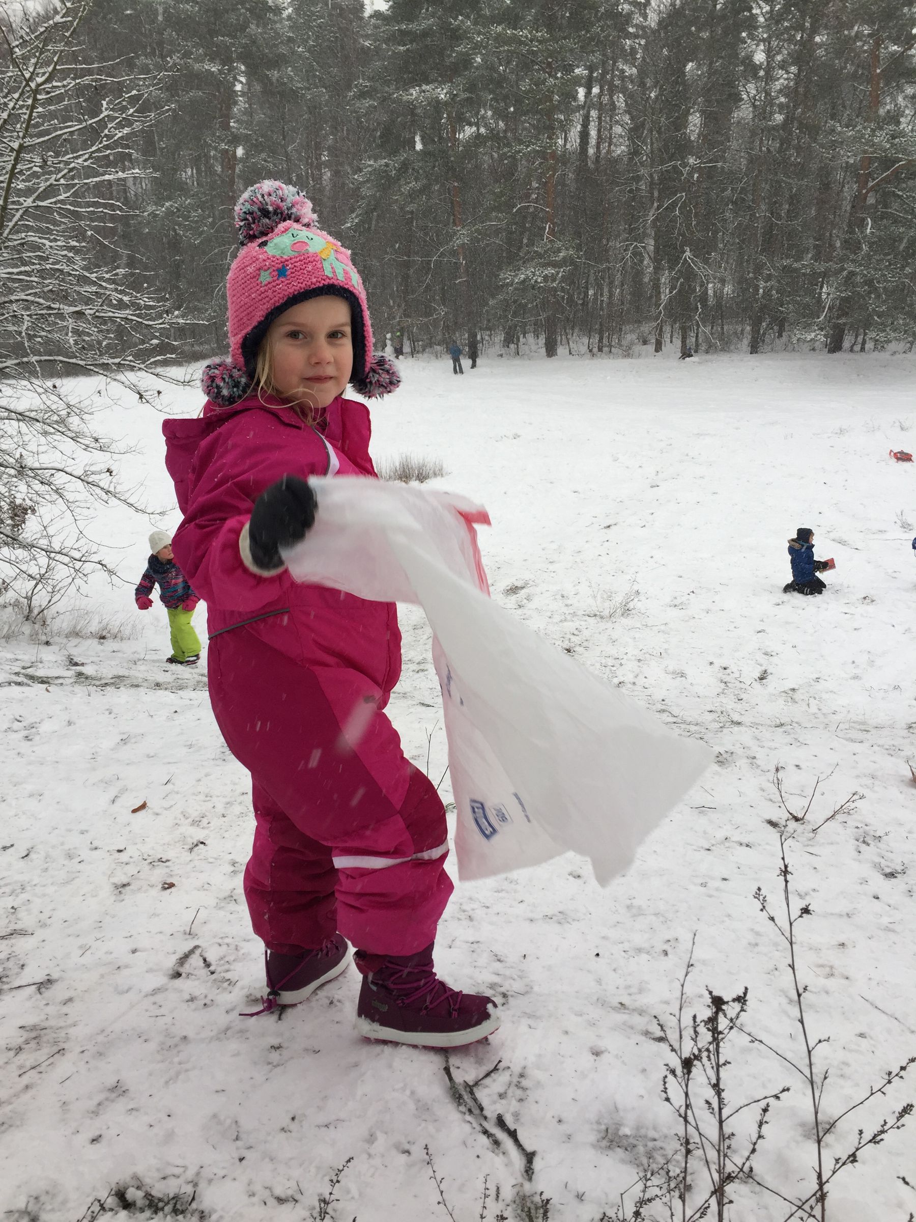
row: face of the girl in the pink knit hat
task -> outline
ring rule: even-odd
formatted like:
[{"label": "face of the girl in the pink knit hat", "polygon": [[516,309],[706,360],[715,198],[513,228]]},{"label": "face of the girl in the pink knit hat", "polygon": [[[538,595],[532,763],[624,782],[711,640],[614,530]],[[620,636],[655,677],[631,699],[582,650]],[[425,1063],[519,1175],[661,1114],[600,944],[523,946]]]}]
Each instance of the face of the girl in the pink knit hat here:
[{"label": "face of the girl in the pink knit hat", "polygon": [[311,297],[274,319],[271,345],[274,386],[280,398],[326,408],[353,373],[353,323],[341,297]]}]

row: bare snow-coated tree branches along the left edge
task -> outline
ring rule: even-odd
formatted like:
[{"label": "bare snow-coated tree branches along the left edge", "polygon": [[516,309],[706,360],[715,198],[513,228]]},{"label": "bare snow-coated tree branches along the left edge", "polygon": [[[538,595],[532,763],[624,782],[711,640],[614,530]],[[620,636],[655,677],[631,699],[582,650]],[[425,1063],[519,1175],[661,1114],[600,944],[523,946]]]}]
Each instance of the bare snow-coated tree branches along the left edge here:
[{"label": "bare snow-coated tree branches along the left edge", "polygon": [[177,321],[117,244],[159,82],[88,54],[85,11],[0,16],[0,598],[33,618],[105,568],[83,533],[89,503],[139,507],[98,397],[62,374],[134,386],[171,354]]}]

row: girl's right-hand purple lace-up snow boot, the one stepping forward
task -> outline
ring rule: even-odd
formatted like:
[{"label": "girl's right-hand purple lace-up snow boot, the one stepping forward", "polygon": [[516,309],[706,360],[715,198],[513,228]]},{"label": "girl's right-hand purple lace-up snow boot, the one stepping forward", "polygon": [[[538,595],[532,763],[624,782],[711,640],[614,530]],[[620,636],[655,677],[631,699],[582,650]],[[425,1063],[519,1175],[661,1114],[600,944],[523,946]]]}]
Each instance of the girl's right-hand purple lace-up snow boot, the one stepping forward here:
[{"label": "girl's right-hand purple lace-up snow boot, the one stepping forward", "polygon": [[432,946],[415,954],[369,954],[353,959],[363,976],[357,1031],[420,1048],[459,1048],[492,1035],[500,1025],[496,1002],[462,993],[438,979]]}]

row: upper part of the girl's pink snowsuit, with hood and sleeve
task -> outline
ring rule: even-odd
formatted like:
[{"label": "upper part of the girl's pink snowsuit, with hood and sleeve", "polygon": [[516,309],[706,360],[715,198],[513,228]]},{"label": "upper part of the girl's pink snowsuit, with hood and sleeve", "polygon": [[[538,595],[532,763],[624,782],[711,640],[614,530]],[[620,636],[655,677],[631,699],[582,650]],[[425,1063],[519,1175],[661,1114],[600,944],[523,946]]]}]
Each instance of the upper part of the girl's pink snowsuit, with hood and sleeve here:
[{"label": "upper part of the girl's pink snowsuit, with hood and sleeve", "polygon": [[324,428],[311,428],[280,400],[250,396],[230,408],[206,402],[198,419],[166,420],[166,467],[184,518],[172,539],[175,558],[205,600],[208,629],[269,611],[250,632],[303,666],[348,667],[385,697],[401,675],[401,633],[391,602],[250,572],[239,535],[260,494],[285,474],[375,475],[369,457],[369,409],[340,396]]}]

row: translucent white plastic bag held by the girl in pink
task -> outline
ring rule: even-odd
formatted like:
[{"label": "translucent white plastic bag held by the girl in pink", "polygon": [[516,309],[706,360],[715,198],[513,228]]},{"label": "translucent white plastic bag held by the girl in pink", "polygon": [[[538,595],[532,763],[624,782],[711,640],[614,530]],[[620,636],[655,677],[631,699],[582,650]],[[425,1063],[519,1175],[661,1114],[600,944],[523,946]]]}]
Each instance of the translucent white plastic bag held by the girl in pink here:
[{"label": "translucent white plastic bag held by the girl in pink", "polygon": [[313,478],[319,512],[291,574],[364,599],[418,602],[442,687],[462,879],[573,849],[605,886],[712,760],[554,649],[485,591],[464,497]]}]

